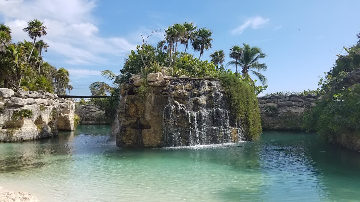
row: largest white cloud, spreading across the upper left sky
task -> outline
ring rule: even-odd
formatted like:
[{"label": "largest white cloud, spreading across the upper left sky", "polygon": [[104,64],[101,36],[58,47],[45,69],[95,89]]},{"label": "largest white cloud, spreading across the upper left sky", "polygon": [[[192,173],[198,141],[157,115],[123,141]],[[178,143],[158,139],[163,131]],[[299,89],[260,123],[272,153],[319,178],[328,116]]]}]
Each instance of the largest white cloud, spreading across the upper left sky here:
[{"label": "largest white cloud, spreading across the upper left sky", "polygon": [[136,46],[122,36],[101,37],[91,13],[95,7],[94,0],[0,0],[0,19],[12,29],[14,42],[30,40],[22,29],[39,19],[48,27],[41,39],[49,52],[69,64],[106,64]]}]

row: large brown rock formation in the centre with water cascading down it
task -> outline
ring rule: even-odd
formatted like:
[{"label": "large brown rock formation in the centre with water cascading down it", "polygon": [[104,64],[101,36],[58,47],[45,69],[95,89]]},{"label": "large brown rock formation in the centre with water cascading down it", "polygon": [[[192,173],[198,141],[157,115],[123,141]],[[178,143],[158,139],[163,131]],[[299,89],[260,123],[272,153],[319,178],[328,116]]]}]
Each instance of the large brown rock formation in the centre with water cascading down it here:
[{"label": "large brown rock formation in the centre with water cascading down it", "polygon": [[144,88],[141,82],[134,75],[122,86],[117,146],[190,146],[242,139],[244,126],[235,123],[219,81],[153,73],[145,81],[145,95],[139,90]]}]

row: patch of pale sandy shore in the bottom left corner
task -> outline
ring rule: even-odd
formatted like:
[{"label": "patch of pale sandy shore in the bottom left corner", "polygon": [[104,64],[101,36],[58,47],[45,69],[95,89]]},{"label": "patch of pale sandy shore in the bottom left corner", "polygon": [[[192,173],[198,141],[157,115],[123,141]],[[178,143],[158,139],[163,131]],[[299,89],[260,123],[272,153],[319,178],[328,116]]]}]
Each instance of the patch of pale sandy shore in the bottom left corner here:
[{"label": "patch of pale sandy shore in the bottom left corner", "polygon": [[4,202],[38,202],[36,196],[27,192],[16,192],[0,187],[0,201]]}]

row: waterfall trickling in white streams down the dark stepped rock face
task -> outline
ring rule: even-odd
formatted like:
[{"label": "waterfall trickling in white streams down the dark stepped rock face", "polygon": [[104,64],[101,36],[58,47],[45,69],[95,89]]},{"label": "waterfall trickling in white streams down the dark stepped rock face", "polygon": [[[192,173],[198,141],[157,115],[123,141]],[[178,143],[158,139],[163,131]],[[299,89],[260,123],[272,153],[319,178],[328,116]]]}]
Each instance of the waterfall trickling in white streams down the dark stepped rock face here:
[{"label": "waterfall trickling in white streams down the dark stepped rock face", "polygon": [[243,128],[230,126],[229,108],[219,81],[173,80],[163,111],[163,146],[241,141]]}]

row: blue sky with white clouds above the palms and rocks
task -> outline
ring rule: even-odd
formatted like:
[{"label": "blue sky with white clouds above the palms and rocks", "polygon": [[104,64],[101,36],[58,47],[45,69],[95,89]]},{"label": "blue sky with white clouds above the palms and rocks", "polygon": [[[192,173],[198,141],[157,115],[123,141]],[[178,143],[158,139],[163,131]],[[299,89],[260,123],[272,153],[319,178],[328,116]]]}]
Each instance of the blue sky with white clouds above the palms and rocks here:
[{"label": "blue sky with white clouds above the palms and rocks", "polygon": [[[224,50],[226,64],[231,46],[260,47],[267,54],[265,94],[316,89],[342,47],[356,43],[359,8],[359,0],[0,0],[0,22],[12,29],[13,42],[30,40],[22,28],[31,19],[44,22],[48,34],[41,39],[50,46],[44,60],[69,70],[71,95],[91,95],[90,83],[108,82],[101,70],[120,74],[126,54],[142,42],[140,33],[183,22],[213,31],[204,60]],[[162,39],[159,32],[149,43]]]}]

